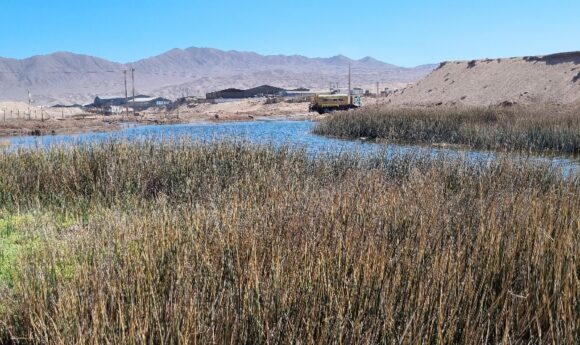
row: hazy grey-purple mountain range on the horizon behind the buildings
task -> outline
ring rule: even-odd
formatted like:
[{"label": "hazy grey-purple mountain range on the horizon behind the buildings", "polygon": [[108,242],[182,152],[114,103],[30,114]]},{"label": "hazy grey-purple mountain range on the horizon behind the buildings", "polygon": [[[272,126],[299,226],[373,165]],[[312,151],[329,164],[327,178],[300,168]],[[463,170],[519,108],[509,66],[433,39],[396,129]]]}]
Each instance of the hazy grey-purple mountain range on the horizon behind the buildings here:
[{"label": "hazy grey-purple mountain range on the horizon behind the buildings", "polygon": [[[0,100],[25,101],[27,90],[41,104],[85,103],[97,95],[120,96],[124,94],[122,71],[131,68],[135,68],[137,93],[169,98],[262,84],[326,88],[330,83],[346,85],[349,64],[355,86],[415,82],[435,68],[402,68],[370,57],[263,56],[209,48],[173,49],[128,64],[59,52],[23,60],[0,58]],[[128,80],[130,88],[130,76]]]}]

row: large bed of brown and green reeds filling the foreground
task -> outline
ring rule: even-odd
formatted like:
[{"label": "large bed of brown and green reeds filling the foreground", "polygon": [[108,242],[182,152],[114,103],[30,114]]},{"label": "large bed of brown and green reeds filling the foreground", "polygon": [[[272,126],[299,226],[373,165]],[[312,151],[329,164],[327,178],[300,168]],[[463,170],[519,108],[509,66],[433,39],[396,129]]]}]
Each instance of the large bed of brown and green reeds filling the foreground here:
[{"label": "large bed of brown and green reeds filling the foreground", "polygon": [[0,161],[3,214],[40,224],[5,343],[580,339],[580,178],[548,166],[231,142]]}]

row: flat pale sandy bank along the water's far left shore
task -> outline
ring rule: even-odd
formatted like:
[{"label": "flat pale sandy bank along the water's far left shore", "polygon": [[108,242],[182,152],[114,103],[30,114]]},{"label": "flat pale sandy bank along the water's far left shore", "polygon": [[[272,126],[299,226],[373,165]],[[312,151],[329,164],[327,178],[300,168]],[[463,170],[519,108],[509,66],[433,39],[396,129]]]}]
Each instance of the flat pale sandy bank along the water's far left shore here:
[{"label": "flat pale sandy bank along the water's far left shore", "polygon": [[[0,137],[114,131],[122,128],[124,123],[151,125],[320,118],[317,113],[309,112],[308,106],[307,102],[266,104],[263,99],[249,99],[221,104],[183,105],[169,112],[150,109],[137,116],[102,116],[83,114],[80,109],[50,108],[43,109],[41,114],[40,108],[29,108],[24,103],[2,102]],[[4,109],[7,110],[6,117]]]}]

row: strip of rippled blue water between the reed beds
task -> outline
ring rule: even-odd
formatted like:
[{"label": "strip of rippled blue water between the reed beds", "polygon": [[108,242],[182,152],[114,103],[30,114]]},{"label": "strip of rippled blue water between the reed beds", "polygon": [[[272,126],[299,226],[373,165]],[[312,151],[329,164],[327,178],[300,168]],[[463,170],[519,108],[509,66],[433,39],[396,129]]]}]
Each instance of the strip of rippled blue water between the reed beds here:
[{"label": "strip of rippled blue water between the reed beds", "polygon": [[[489,151],[459,150],[454,148],[433,148],[416,145],[377,144],[360,140],[341,140],[312,134],[312,121],[254,121],[218,124],[182,124],[131,126],[120,131],[106,133],[81,133],[54,136],[22,136],[8,139],[10,149],[50,147],[63,144],[95,143],[108,139],[117,140],[164,140],[191,138],[194,141],[242,140],[266,145],[289,145],[304,148],[312,154],[334,154],[345,151],[372,153],[386,151],[395,153],[419,153],[428,155],[444,154],[465,157],[470,161],[484,163],[497,158]],[[568,171],[580,171],[580,161],[568,157],[536,157],[539,162],[547,161],[553,166]]]}]

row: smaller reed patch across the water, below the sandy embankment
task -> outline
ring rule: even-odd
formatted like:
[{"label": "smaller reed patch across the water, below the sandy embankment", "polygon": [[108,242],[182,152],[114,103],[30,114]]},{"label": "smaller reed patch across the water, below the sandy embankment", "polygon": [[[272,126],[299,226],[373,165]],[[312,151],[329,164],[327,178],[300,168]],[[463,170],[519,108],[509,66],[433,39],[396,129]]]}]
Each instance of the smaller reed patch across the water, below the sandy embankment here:
[{"label": "smaller reed patch across the water, below the sandy embankment", "polygon": [[335,113],[321,121],[315,133],[349,139],[578,155],[580,110],[371,107]]}]

